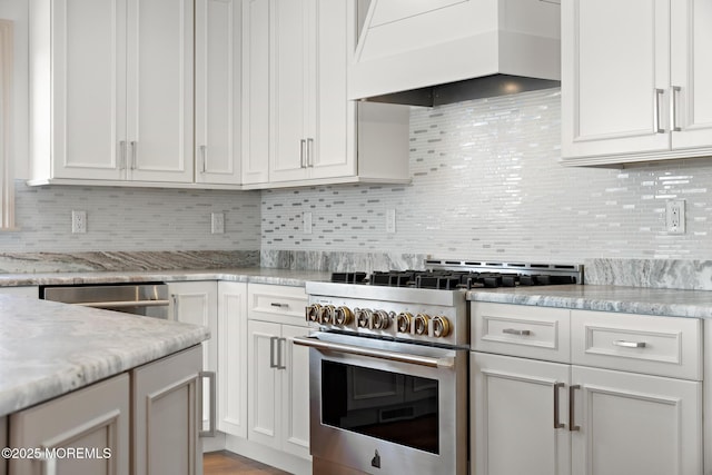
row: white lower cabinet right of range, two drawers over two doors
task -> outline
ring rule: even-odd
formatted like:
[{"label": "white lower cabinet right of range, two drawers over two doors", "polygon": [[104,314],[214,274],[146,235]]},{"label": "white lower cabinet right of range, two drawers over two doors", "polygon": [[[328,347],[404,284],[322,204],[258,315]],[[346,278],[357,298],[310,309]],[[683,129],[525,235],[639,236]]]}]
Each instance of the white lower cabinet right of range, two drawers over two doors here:
[{"label": "white lower cabinet right of range, two drawers over two doors", "polygon": [[[475,475],[703,473],[701,320],[541,308],[532,319],[527,306],[483,303],[472,309]],[[556,346],[571,339],[571,355],[542,360],[532,345],[545,330],[537,326],[568,328],[566,319],[571,334],[557,333]],[[502,321],[517,323],[517,331]],[[506,343],[493,339],[496,329]],[[587,358],[595,364],[571,364]],[[621,370],[626,362],[646,374]]]}]

